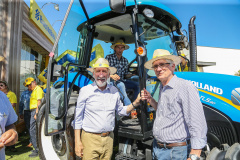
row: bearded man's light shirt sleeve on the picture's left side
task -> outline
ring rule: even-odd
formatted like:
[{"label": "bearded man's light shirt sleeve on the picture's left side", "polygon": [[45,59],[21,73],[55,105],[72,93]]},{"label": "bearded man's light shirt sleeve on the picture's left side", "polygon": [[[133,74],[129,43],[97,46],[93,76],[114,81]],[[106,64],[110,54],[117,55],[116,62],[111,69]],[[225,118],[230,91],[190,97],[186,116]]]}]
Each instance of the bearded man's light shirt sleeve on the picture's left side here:
[{"label": "bearded man's light shirt sleeve on the picture's left side", "polygon": [[73,121],[74,129],[82,129],[86,99],[87,99],[86,92],[84,93],[84,88],[82,88],[80,90],[80,93],[77,99],[77,106],[75,109],[75,118]]}]

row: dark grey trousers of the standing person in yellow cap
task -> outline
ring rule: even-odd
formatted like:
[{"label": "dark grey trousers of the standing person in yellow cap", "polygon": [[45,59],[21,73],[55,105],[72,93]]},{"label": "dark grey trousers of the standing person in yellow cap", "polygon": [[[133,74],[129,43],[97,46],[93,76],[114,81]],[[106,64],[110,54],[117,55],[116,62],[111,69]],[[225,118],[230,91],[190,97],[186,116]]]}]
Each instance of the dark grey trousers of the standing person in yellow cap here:
[{"label": "dark grey trousers of the standing person in yellow cap", "polygon": [[31,110],[31,119],[30,119],[30,139],[32,141],[32,145],[35,149],[35,152],[38,152],[37,147],[37,139],[36,139],[36,120],[34,119],[34,115],[36,114],[36,109]]}]

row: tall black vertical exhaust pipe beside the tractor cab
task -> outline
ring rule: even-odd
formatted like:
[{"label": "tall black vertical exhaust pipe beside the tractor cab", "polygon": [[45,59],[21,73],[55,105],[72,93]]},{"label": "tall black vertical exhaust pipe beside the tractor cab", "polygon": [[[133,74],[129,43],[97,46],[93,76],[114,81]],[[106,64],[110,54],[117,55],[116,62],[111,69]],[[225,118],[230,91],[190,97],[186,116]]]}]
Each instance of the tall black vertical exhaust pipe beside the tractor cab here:
[{"label": "tall black vertical exhaust pipe beside the tractor cab", "polygon": [[188,24],[189,30],[189,47],[190,47],[190,70],[197,71],[197,41],[196,41],[196,28],[194,21],[196,16],[193,16]]}]

